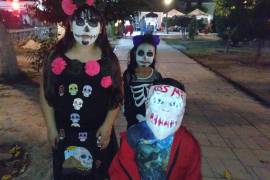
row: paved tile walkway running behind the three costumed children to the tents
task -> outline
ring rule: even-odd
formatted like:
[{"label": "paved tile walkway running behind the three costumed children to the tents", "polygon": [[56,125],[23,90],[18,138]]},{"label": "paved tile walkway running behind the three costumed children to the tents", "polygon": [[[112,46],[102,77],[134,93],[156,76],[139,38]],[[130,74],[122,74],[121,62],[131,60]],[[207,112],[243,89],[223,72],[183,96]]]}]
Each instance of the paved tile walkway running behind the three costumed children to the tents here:
[{"label": "paved tile walkway running behind the three costumed children to the tents", "polygon": [[[131,47],[131,39],[116,46],[122,70]],[[163,41],[157,59],[163,76],[186,86],[184,124],[201,145],[204,179],[224,179],[225,170],[232,179],[270,179],[270,110]],[[121,115],[117,131],[125,126]]]}]

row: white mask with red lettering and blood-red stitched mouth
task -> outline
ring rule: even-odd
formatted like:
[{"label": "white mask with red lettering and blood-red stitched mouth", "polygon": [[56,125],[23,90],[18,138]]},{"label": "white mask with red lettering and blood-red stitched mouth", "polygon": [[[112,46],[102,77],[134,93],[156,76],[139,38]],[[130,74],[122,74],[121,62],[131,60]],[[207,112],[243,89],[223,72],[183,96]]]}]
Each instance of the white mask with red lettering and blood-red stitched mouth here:
[{"label": "white mask with red lettering and blood-red stitched mouth", "polygon": [[186,94],[170,85],[151,86],[146,103],[146,123],[159,140],[180,127],[185,112]]}]

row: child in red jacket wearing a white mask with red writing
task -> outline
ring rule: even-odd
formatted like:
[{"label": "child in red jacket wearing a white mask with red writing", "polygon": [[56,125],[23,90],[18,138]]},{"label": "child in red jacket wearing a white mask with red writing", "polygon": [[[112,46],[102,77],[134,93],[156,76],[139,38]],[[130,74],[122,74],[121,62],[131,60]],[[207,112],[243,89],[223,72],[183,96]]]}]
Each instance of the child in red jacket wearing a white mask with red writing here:
[{"label": "child in red jacket wearing a white mask with red writing", "polygon": [[196,139],[181,126],[186,105],[184,86],[170,78],[151,86],[146,121],[121,134],[112,180],[200,180],[201,154]]}]

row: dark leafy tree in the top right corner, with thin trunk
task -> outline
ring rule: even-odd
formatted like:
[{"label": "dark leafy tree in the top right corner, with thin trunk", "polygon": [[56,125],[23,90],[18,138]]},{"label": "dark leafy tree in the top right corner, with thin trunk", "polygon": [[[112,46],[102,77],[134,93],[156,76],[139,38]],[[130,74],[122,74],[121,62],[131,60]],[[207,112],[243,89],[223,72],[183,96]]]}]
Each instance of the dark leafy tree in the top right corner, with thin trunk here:
[{"label": "dark leafy tree in the top right corner, with thin trunk", "polygon": [[265,39],[270,39],[269,9],[269,0],[216,0],[216,30],[234,44],[256,40],[259,59]]}]

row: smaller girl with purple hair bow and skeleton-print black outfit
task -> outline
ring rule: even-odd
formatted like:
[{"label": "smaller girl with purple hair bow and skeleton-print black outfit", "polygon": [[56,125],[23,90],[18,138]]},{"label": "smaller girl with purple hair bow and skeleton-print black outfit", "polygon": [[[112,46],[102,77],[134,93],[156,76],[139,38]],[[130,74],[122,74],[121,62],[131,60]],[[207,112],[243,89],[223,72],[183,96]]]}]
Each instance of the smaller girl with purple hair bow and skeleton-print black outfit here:
[{"label": "smaller girl with purple hair bow and skeleton-print black outfit", "polygon": [[133,38],[134,47],[130,51],[130,63],[123,75],[124,115],[128,128],[144,120],[149,86],[162,78],[155,69],[159,41],[158,36],[150,34]]}]

